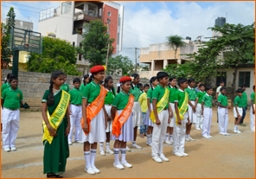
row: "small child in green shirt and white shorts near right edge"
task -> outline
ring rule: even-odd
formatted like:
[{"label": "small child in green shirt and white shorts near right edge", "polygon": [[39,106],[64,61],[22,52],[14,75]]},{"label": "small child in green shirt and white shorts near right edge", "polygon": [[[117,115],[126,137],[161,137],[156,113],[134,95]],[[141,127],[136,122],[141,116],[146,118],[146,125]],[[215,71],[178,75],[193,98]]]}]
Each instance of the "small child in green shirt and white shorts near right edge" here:
[{"label": "small child in green shirt and white shorts near right edge", "polygon": [[243,98],[242,95],[244,93],[244,91],[239,88],[238,90],[236,90],[237,96],[234,98],[234,133],[241,133],[238,128],[237,125],[240,124],[240,120],[243,116]]}]

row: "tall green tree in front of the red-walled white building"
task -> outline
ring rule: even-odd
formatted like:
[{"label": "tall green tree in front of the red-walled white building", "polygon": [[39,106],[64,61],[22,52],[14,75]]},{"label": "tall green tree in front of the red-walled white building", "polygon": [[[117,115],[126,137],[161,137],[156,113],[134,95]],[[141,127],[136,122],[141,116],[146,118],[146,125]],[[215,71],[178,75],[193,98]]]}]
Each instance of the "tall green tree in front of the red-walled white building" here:
[{"label": "tall green tree in front of the red-walled white building", "polygon": [[114,50],[112,42],[115,39],[109,39],[109,35],[106,35],[107,27],[100,20],[86,23],[84,29],[81,47],[78,48],[79,53],[91,63],[91,67],[105,65],[108,42],[110,41],[109,56],[111,56]]}]

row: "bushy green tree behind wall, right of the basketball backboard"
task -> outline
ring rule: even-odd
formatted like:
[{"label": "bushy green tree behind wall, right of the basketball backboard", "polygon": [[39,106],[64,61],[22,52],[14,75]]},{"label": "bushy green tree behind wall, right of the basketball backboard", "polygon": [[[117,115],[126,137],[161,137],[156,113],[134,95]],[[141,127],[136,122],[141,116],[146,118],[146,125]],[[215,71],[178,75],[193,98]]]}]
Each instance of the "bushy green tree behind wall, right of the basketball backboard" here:
[{"label": "bushy green tree behind wall, right of the basketball backboard", "polygon": [[52,73],[61,70],[65,74],[80,76],[75,65],[77,60],[76,49],[69,42],[61,39],[44,37],[42,54],[31,53],[27,62],[29,72]]}]

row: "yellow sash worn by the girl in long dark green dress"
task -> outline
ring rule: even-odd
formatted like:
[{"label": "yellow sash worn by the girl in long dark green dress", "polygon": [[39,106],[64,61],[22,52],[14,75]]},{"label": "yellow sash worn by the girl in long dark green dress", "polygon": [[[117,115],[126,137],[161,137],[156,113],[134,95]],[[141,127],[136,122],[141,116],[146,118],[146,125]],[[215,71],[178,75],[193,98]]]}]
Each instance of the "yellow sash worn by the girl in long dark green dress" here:
[{"label": "yellow sash worn by the girl in long dark green dress", "polygon": [[[62,91],[61,100],[59,102],[59,105],[57,105],[54,113],[50,116],[49,112],[47,111],[47,118],[48,118],[49,124],[54,128],[55,131],[57,131],[58,127],[61,125],[63,118],[66,115],[67,105],[70,98],[70,94],[68,94],[64,90],[61,90],[61,91]],[[48,143],[52,144],[54,137],[50,136],[47,125],[45,124],[44,120],[42,121],[42,125],[43,125],[43,131],[44,131],[42,136],[42,141],[48,140]]]}]

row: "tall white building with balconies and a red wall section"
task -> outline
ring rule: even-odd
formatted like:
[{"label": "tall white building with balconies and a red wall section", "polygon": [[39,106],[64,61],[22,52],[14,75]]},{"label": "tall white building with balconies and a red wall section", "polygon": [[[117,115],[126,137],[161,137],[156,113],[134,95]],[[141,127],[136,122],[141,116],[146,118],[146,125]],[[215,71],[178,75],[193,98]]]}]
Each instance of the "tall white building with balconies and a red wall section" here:
[{"label": "tall white building with balconies and a red wall section", "polygon": [[[38,32],[42,36],[48,33],[54,34],[56,38],[67,40],[76,47],[80,46],[83,26],[93,20],[100,19],[109,24],[110,38],[114,38],[112,46],[115,48],[113,56],[122,51],[124,6],[110,1],[61,1],[58,8],[50,8],[40,12]],[[79,71],[87,74],[86,67],[89,62],[78,55],[77,64]]]}]

